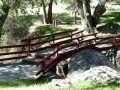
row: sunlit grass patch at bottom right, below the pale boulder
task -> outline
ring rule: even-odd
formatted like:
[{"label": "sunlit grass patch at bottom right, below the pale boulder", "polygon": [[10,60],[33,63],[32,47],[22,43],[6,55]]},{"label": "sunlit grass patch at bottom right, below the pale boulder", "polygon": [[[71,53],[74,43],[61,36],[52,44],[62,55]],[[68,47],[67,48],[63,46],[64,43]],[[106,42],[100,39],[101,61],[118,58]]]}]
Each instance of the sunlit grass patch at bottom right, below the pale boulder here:
[{"label": "sunlit grass patch at bottom right, below the pale boulder", "polygon": [[[103,83],[95,83],[95,82],[77,82],[71,85],[72,90],[119,90],[120,89],[120,81],[113,82],[103,82]],[[64,89],[64,90],[69,90]]]}]

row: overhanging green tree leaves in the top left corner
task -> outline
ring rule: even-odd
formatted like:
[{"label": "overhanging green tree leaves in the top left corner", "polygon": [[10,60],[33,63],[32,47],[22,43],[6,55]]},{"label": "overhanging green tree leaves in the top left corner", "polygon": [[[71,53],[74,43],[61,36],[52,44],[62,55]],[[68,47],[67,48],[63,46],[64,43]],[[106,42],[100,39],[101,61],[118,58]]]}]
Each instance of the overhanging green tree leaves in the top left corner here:
[{"label": "overhanging green tree leaves in the top left corner", "polygon": [[28,10],[30,9],[32,12],[32,9],[37,7],[38,10],[36,13],[40,12],[41,7],[41,0],[0,0],[0,8],[4,8],[5,6],[8,6],[10,11],[13,13],[16,13],[16,15],[19,13],[27,14]]}]

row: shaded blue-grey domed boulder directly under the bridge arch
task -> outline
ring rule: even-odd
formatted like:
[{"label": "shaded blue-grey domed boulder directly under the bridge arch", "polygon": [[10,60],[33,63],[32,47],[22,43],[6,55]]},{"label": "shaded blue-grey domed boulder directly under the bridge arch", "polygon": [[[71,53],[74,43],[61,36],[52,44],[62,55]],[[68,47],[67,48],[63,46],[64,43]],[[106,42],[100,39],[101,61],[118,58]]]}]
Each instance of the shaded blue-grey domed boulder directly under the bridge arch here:
[{"label": "shaded blue-grey domed boulder directly under the bridge arch", "polygon": [[91,67],[103,65],[116,69],[109,59],[102,53],[96,50],[86,49],[71,56],[68,64],[68,71],[69,74],[74,73],[75,71],[81,74],[84,71],[89,70]]}]

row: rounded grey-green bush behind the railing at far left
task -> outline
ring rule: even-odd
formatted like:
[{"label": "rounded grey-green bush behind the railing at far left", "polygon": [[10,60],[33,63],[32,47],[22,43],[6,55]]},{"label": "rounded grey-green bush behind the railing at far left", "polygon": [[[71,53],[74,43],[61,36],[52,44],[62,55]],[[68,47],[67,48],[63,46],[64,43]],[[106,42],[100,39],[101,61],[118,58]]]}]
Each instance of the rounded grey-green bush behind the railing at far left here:
[{"label": "rounded grey-green bush behind the railing at far left", "polygon": [[16,44],[19,39],[28,34],[30,23],[18,18],[8,18],[3,26],[2,40],[4,44]]}]

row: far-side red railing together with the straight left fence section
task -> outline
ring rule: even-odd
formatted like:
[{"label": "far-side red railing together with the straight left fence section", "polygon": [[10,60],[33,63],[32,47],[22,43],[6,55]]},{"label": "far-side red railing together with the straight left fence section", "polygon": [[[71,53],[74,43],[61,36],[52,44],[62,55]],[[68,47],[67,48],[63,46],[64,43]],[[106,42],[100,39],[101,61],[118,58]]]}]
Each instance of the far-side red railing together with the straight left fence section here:
[{"label": "far-side red railing together with the straight left fence section", "polygon": [[[30,52],[39,51],[41,49],[50,47],[50,42],[54,43],[55,40],[59,40],[61,38],[65,38],[65,37],[71,37],[71,35],[70,34],[68,35],[68,33],[73,33],[74,31],[76,31],[76,30],[59,32],[59,33],[52,34],[52,35],[39,36],[39,37],[30,38],[30,39],[23,39],[23,40],[21,40],[23,42],[19,45],[0,46],[0,61],[20,60],[24,57],[27,57],[28,56],[27,53],[30,54]],[[65,34],[65,33],[66,33],[66,36],[56,38],[57,35]],[[77,34],[78,34],[78,32],[77,32]],[[41,38],[49,37],[49,36],[52,37],[51,40],[46,40],[46,41],[44,40],[43,42],[36,42],[36,39],[38,39],[38,38],[41,40]],[[48,42],[49,42],[49,45],[46,47],[42,47],[42,48],[36,49],[36,50],[31,49],[32,46],[44,44],[44,43],[48,43]]]}]

